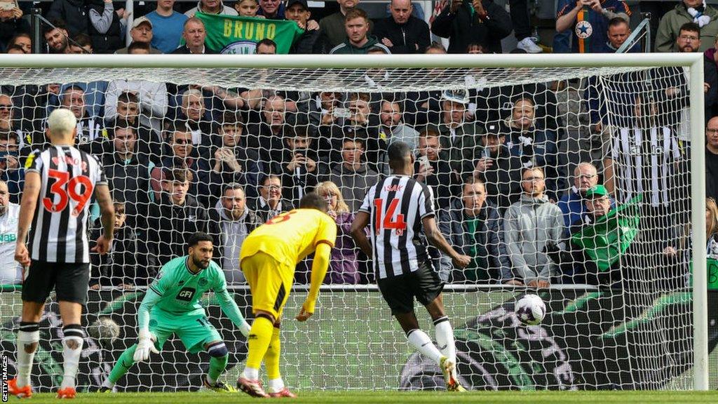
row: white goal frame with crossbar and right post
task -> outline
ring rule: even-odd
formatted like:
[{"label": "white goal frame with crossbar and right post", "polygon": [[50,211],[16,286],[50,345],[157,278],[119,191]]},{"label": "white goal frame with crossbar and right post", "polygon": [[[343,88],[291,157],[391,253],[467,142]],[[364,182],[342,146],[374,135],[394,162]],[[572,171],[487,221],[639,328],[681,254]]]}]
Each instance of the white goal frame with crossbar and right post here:
[{"label": "white goal frame with crossbar and right post", "polygon": [[[0,55],[1,68],[654,68],[689,71],[691,223],[705,229],[702,53],[553,55]],[[708,390],[706,235],[691,231],[694,390]]]}]

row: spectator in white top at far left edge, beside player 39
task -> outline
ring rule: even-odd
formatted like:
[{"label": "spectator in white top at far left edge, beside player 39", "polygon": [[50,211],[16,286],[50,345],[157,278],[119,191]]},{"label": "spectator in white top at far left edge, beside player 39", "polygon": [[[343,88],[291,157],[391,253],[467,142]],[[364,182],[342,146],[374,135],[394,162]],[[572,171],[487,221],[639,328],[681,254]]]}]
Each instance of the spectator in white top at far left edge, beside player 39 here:
[{"label": "spectator in white top at far left edge, beside player 39", "polygon": [[[0,180],[0,285],[22,283],[22,265],[15,261],[20,206],[9,199],[7,184]],[[15,237],[12,237],[15,236]]]}]

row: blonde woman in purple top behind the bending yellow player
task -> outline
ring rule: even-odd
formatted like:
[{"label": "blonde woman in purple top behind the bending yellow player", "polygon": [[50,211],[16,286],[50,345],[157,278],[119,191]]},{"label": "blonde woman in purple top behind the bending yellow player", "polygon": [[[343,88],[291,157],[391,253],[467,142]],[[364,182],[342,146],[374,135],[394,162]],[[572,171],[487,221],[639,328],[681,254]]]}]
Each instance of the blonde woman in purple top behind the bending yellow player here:
[{"label": "blonde woman in purple top behind the bending yellow player", "polygon": [[[327,201],[327,214],[337,223],[337,240],[332,249],[332,259],[324,283],[356,285],[361,283],[358,249],[349,233],[354,213],[344,202],[342,193],[335,183],[325,181],[317,185],[314,192]],[[365,275],[364,275],[365,276]]]}]

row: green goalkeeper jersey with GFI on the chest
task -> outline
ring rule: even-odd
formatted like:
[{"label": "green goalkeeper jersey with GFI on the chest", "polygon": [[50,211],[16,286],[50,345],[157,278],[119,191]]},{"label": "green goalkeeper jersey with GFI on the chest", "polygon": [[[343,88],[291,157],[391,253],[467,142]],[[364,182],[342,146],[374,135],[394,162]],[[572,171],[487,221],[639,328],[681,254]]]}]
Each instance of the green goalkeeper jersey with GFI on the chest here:
[{"label": "green goalkeeper jersey with GFI on the chest", "polygon": [[149,288],[160,296],[155,306],[169,313],[185,313],[202,309],[199,303],[202,295],[210,290],[220,295],[226,293],[227,282],[219,265],[210,261],[210,266],[196,274],[190,272],[187,260],[177,257],[162,265],[157,278]]}]

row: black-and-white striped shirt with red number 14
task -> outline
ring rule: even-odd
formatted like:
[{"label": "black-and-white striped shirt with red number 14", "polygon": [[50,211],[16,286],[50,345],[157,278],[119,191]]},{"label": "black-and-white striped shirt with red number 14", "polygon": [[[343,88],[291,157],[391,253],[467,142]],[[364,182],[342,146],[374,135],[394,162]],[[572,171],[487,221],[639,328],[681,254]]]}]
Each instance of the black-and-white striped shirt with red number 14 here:
[{"label": "black-and-white striped shirt with red number 14", "polygon": [[372,262],[377,279],[407,274],[427,259],[421,219],[434,216],[431,188],[390,175],[369,188],[360,211],[370,215]]}]

